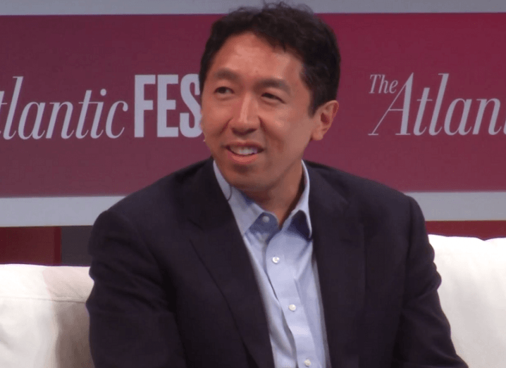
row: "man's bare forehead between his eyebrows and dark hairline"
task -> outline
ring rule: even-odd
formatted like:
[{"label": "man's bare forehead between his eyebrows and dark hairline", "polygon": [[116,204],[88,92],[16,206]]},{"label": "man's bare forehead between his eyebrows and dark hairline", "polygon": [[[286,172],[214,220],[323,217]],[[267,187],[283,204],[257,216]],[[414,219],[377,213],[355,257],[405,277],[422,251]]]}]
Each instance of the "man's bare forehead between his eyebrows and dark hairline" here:
[{"label": "man's bare forehead between his eyebrows and dark hairline", "polygon": [[295,50],[283,49],[263,37],[246,32],[229,37],[221,46],[214,56],[209,77],[226,76],[223,70],[228,70],[242,77],[274,77],[301,82],[302,67],[301,58]]}]

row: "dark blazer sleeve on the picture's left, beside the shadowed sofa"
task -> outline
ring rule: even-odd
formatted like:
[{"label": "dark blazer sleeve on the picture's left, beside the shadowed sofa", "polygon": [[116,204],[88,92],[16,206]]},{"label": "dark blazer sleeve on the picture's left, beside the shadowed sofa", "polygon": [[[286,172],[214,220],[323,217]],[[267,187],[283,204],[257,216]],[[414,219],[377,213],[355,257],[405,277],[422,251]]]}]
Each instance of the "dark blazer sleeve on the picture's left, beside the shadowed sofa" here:
[{"label": "dark blazer sleeve on the picture's left, beside the shadowed sofa", "polygon": [[186,367],[171,300],[156,259],[133,224],[108,210],[92,229],[87,309],[96,368]]}]

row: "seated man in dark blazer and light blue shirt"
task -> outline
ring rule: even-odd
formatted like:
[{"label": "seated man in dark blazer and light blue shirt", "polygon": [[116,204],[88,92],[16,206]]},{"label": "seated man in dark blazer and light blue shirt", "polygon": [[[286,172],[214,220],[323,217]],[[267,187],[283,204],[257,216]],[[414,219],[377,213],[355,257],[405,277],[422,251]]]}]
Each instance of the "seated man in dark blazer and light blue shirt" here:
[{"label": "seated man in dark blazer and light blue shirt", "polygon": [[97,368],[467,367],[418,205],[302,161],[337,113],[339,63],[309,11],[213,25],[199,74],[212,159],[94,225]]}]

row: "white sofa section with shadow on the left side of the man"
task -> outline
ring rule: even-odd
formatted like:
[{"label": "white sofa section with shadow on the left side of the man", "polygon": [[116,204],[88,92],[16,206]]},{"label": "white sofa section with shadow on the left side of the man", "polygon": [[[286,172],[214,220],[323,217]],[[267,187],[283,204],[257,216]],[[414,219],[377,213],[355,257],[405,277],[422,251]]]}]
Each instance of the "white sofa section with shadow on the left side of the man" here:
[{"label": "white sofa section with shadow on the left side of the man", "polygon": [[0,265],[0,367],[93,367],[88,267]]}]

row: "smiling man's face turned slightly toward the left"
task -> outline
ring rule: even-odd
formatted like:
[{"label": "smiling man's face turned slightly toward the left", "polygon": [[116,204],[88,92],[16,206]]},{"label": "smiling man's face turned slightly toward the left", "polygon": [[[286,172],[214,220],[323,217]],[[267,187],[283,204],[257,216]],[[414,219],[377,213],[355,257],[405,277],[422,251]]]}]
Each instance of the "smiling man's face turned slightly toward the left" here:
[{"label": "smiling man's face turned slightly toward the left", "polygon": [[298,186],[304,149],[328,129],[318,110],[309,117],[301,71],[295,53],[250,32],[230,37],[214,56],[202,131],[227,182],[246,193]]}]

